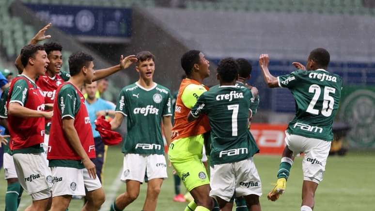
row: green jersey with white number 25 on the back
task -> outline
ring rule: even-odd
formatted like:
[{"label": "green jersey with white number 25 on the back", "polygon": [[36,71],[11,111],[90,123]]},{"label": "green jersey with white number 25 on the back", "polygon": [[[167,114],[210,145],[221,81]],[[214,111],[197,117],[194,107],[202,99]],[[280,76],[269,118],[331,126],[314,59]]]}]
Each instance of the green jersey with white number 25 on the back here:
[{"label": "green jersey with white number 25 on the back", "polygon": [[290,134],[333,140],[332,124],[339,108],[343,81],[324,69],[297,70],[278,77],[279,86],[286,87],[296,102],[296,116],[289,123]]}]

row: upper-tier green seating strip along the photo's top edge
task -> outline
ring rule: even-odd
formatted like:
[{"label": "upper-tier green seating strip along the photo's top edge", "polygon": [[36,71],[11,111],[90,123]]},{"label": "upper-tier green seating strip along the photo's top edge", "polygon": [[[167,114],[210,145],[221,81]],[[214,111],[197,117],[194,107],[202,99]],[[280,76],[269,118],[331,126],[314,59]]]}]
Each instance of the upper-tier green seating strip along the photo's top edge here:
[{"label": "upper-tier green seating strip along the photo's top edge", "polygon": [[[155,7],[156,0],[22,0],[25,3]],[[193,10],[238,12],[319,13],[327,15],[375,15],[375,9],[366,7],[363,0],[184,0],[180,7]],[[164,4],[165,5],[165,4]],[[161,5],[160,5],[161,6]]]}]

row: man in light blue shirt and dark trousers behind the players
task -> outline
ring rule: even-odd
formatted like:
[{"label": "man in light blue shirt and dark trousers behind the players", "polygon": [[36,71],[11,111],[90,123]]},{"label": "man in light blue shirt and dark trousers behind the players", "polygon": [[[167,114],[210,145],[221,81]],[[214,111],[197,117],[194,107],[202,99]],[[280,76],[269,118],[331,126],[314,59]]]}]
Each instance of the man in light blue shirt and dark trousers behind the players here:
[{"label": "man in light blue shirt and dark trousers behind the players", "polygon": [[99,132],[95,130],[94,121],[98,116],[101,115],[110,115],[113,117],[115,115],[115,105],[100,97],[96,97],[96,93],[98,90],[96,81],[93,81],[91,84],[85,83],[84,87],[87,93],[85,105],[90,116],[91,129],[93,131],[95,143],[96,158],[93,160],[93,162],[96,167],[96,175],[98,176],[100,182],[102,182],[102,169],[105,162],[108,146],[104,145]]}]

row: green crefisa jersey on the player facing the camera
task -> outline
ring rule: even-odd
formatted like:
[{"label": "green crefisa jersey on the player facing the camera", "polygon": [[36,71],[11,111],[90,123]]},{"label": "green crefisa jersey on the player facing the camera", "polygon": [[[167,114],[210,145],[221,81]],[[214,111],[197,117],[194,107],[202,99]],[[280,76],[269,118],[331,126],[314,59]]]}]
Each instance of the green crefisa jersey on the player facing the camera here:
[{"label": "green crefisa jersey on the player facing the camera", "polygon": [[157,83],[145,89],[136,82],[121,90],[115,112],[127,116],[123,153],[164,154],[161,120],[172,116],[171,98],[171,91]]}]

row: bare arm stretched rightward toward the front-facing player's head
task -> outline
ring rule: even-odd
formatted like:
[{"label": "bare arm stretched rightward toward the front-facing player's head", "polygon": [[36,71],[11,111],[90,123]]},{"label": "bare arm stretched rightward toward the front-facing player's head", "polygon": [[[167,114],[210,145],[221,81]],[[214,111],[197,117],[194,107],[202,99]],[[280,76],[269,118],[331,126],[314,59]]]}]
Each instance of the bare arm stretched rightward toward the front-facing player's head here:
[{"label": "bare arm stretched rightward toward the front-facing player's head", "polygon": [[119,70],[126,69],[135,62],[137,62],[137,57],[135,55],[126,56],[125,58],[123,55],[121,55],[120,64],[105,69],[95,70],[93,81],[106,78]]}]

